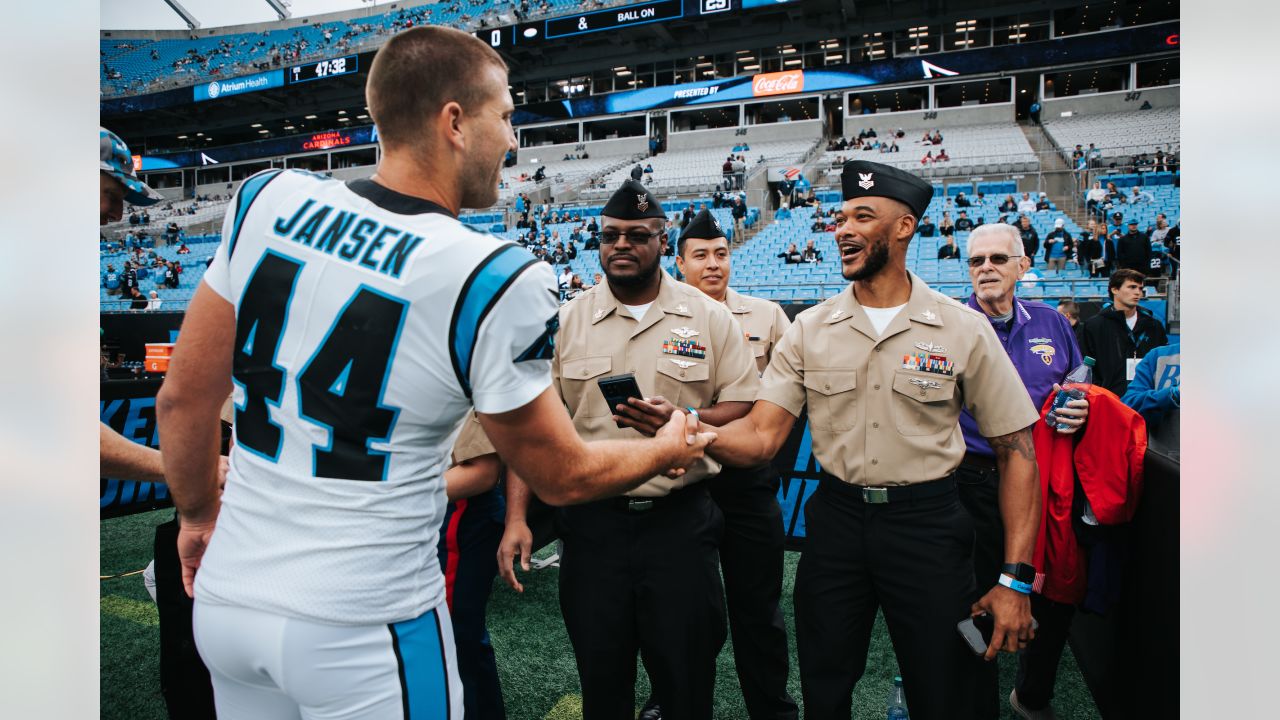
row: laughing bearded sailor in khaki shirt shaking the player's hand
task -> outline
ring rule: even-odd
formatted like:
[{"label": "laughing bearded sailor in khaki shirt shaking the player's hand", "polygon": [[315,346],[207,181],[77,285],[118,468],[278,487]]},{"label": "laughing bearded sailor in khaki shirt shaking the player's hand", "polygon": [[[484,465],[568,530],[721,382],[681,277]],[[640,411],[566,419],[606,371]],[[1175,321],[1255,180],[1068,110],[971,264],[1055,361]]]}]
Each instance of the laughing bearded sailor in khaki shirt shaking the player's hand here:
[{"label": "laughing bearded sailor in khaki shirt shaking the player's hand", "polygon": [[997,454],[1006,562],[1029,562],[1036,542],[1038,414],[991,323],[906,270],[931,186],[860,160],[845,164],[842,181],[836,241],[852,283],[796,318],[751,413],[723,427],[709,454],[732,464],[769,457],[808,405],[826,478],[805,506],[796,573],[805,717],[847,720],[879,609],[911,717],[968,719],[979,660],[956,623],[995,616],[988,659],[1033,633],[1027,594],[996,585],[978,598],[973,520],[952,478],[965,452],[960,409]]}]

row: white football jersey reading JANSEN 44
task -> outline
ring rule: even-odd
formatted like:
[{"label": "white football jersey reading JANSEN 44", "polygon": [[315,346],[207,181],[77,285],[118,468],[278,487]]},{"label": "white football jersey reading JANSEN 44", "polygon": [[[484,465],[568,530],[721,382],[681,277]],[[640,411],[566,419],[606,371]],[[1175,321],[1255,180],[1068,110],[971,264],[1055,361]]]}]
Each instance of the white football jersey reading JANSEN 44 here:
[{"label": "white football jersey reading JANSEN 44", "polygon": [[273,169],[204,282],[236,305],[236,445],[197,597],[338,625],[443,602],[449,448],[472,405],[550,386],[550,265],[372,181]]}]

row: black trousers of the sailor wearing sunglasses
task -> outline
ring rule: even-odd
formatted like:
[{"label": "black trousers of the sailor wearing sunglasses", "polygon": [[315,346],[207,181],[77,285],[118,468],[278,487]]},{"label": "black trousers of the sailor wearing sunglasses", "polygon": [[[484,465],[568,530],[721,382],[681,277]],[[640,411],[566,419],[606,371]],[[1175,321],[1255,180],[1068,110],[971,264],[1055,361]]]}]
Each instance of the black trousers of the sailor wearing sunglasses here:
[{"label": "black trousers of the sailor wearing sunglasses", "polygon": [[709,720],[724,646],[717,546],[724,519],[703,484],[644,511],[609,498],[561,509],[561,612],[584,720],[634,720],[644,653],[664,720]]}]

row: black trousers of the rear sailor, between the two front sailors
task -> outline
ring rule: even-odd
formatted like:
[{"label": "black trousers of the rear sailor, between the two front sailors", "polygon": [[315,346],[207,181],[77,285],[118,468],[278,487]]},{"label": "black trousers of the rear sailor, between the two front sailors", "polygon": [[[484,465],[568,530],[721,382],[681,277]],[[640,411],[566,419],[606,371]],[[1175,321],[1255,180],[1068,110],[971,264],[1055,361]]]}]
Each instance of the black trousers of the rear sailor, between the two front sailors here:
[{"label": "black trousers of the rear sailor, between the two front sailors", "polygon": [[719,546],[733,664],[750,720],[795,720],[787,694],[787,630],[782,621],[786,533],[772,465],[723,468],[707,482],[724,515]]}]

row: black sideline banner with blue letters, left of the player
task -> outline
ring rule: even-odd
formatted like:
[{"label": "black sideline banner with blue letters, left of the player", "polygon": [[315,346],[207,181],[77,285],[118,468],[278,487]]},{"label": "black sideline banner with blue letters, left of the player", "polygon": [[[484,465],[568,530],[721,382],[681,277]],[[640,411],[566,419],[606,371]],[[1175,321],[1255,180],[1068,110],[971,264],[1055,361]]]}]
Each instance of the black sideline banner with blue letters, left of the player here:
[{"label": "black sideline banner with blue letters, left of the player", "polygon": [[[161,382],[104,380],[99,418],[127,439],[157,448],[160,437],[156,432],[156,393]],[[100,520],[170,506],[173,500],[169,498],[169,488],[161,483],[101,479]]]}]

